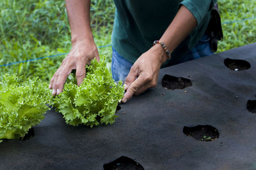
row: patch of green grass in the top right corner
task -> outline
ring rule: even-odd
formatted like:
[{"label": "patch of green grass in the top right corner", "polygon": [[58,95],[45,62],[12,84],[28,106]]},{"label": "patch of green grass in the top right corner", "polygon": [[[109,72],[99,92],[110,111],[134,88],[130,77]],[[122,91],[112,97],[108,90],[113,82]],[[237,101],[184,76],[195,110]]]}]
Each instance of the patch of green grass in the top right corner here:
[{"label": "patch of green grass in the top right corner", "polygon": [[[256,17],[256,1],[248,0],[221,0],[218,1],[221,22],[242,20]],[[218,52],[223,52],[238,46],[256,43],[256,19],[223,24],[224,39],[218,44]]]}]

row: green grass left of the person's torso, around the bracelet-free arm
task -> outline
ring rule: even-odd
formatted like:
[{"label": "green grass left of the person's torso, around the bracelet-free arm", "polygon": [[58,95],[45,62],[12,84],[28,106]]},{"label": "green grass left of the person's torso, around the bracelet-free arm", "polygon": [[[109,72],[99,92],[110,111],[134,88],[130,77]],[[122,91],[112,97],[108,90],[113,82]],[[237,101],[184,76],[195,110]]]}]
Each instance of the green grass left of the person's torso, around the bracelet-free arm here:
[{"label": "green grass left of the person's torso, around the bracelet-free arm", "polygon": [[[104,6],[109,6],[104,8]],[[0,65],[67,53],[71,48],[65,1],[0,1]],[[101,9],[101,10],[97,10]],[[92,29],[97,46],[111,43],[115,8],[113,1],[92,1]],[[111,46],[99,49],[111,58]],[[0,67],[2,73],[51,79],[65,55]]]}]

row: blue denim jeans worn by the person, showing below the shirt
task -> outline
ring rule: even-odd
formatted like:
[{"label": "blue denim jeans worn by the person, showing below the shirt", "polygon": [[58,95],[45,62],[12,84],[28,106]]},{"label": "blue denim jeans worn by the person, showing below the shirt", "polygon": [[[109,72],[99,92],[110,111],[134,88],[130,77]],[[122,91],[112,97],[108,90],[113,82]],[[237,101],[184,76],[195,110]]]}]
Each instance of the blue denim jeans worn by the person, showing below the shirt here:
[{"label": "blue denim jeans worn by the person, showing below the shirt", "polygon": [[[181,62],[186,62],[188,60],[199,59],[200,57],[205,57],[207,55],[213,54],[209,45],[210,38],[207,34],[204,34],[196,46],[185,55]],[[122,80],[124,82],[126,76],[128,75],[133,63],[129,60],[124,59],[114,48],[112,48],[112,76],[115,81]]]}]

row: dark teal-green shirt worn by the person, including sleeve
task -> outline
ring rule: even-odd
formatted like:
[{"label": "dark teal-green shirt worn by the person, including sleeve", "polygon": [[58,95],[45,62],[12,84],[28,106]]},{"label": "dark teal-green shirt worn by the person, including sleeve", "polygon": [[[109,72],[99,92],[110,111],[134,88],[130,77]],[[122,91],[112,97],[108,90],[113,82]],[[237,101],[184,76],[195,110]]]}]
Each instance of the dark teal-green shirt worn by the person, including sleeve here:
[{"label": "dark teal-green shirt worn by the person, including sleeve", "polygon": [[197,26],[173,51],[170,66],[179,62],[207,29],[211,8],[217,0],[114,0],[116,5],[112,45],[125,59],[135,62],[152,43],[160,39],[181,4],[196,18]]}]

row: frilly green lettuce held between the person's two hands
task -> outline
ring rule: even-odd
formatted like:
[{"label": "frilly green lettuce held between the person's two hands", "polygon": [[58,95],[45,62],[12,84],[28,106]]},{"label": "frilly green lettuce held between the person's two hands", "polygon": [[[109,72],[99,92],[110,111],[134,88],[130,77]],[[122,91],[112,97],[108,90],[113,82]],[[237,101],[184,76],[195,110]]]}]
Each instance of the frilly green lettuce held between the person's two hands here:
[{"label": "frilly green lettuce held between the person's two hands", "polygon": [[63,114],[67,124],[113,124],[118,101],[124,96],[122,81],[117,84],[106,67],[106,58],[92,60],[86,66],[86,78],[78,87],[70,78],[63,92],[54,98],[54,107]]}]

